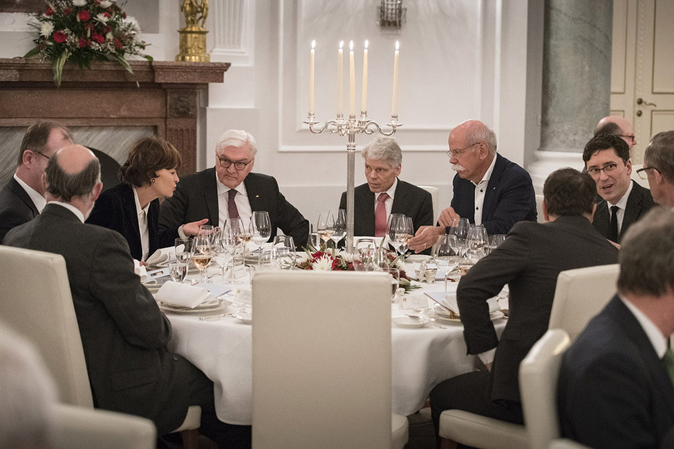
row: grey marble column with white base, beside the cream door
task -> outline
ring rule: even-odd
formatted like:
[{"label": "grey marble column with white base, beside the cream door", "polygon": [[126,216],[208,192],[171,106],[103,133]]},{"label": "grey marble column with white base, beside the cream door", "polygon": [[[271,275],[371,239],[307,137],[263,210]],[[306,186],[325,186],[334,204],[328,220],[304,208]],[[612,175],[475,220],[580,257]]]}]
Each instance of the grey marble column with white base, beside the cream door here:
[{"label": "grey marble column with white base, beside the cream door", "polygon": [[554,169],[583,166],[583,146],[608,115],[612,20],[612,0],[545,1],[541,146],[530,166],[536,191]]}]

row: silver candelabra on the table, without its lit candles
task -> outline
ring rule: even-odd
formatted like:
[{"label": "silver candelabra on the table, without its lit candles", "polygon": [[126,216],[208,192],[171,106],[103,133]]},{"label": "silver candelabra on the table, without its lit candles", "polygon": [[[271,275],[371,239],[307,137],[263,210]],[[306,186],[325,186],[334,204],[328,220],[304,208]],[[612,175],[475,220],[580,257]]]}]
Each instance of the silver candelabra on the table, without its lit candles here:
[{"label": "silver candelabra on the table, without its lit candles", "polygon": [[402,124],[398,123],[398,116],[391,115],[391,122],[386,126],[391,128],[391,131],[385,131],[382,127],[373,120],[368,120],[367,111],[361,111],[360,118],[356,119],[355,115],[349,115],[348,120],[344,119],[344,115],[337,114],[335,120],[327,120],[320,128],[315,128],[319,124],[316,120],[315,113],[308,113],[307,120],[302,123],[309,125],[309,131],[314,134],[320,134],[324,131],[330,131],[333,134],[348,135],[348,142],[346,142],[346,251],[353,253],[353,189],[354,189],[354,171],[355,171],[355,153],[356,153],[356,134],[365,133],[373,134],[379,131],[383,135],[393,135],[395,129]]}]

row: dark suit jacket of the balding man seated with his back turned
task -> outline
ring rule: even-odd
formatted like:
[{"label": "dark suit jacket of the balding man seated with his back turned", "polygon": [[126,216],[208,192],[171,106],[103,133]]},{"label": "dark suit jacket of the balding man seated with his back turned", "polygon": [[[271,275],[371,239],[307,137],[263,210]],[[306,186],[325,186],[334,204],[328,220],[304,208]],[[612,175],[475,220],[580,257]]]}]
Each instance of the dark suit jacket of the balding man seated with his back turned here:
[{"label": "dark suit jacket of the balding man seated with his back turned", "polygon": [[191,365],[166,349],[171,325],[133,273],[124,238],[47,204],[6,244],[65,258],[94,405],[152,419],[158,434],[180,426]]}]

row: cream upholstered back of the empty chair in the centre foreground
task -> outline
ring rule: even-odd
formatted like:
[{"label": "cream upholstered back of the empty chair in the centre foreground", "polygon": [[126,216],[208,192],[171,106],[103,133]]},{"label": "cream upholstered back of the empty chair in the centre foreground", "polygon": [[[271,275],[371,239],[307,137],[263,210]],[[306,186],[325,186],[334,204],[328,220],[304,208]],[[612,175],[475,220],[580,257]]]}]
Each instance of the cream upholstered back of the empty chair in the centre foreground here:
[{"label": "cream upholstered back of the empty chair in the centre foreground", "polygon": [[254,448],[391,448],[388,274],[252,281]]}]

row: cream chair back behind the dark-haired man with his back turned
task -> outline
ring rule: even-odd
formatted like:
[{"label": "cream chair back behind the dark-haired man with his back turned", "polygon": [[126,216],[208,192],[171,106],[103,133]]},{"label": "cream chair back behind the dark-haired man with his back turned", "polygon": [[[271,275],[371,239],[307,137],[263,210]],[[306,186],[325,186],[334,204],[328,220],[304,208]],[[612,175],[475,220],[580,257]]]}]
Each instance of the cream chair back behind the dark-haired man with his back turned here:
[{"label": "cream chair back behind the dark-haired man with his back turned", "polygon": [[615,294],[618,272],[618,264],[561,271],[547,328],[564,329],[574,341]]}]

